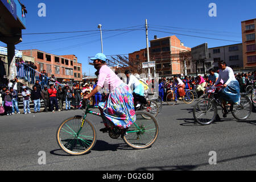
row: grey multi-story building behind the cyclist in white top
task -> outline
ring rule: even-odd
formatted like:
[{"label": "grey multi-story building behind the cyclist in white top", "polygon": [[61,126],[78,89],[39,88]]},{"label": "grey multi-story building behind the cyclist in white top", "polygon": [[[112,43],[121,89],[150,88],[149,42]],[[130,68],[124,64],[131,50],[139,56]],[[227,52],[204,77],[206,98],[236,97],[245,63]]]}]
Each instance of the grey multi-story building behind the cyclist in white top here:
[{"label": "grey multi-story building behind the cyclist in white top", "polygon": [[[205,71],[210,68],[218,69],[218,61],[224,60],[226,64],[235,69],[243,68],[242,43],[228,46],[212,47],[208,49],[209,58],[205,60]],[[203,63],[197,65],[198,73],[204,73]]]}]

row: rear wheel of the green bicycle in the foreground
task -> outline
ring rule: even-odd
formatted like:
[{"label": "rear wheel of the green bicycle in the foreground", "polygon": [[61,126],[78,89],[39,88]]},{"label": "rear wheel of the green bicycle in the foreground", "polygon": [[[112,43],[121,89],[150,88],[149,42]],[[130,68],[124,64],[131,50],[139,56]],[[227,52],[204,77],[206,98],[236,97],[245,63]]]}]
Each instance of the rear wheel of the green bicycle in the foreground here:
[{"label": "rear wheel of the green bicycle in the foreground", "polygon": [[[144,115],[150,119],[144,118]],[[143,149],[155,142],[158,133],[159,126],[156,118],[145,111],[136,111],[136,121],[127,129],[123,140],[132,148]]]}]

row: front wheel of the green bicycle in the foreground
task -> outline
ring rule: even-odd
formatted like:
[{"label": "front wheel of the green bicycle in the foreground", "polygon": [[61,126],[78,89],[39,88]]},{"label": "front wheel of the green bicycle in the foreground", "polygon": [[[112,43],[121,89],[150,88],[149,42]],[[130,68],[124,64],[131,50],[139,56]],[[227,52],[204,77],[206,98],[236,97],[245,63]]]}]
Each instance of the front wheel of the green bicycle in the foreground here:
[{"label": "front wheel of the green bicycle in the foreground", "polygon": [[82,128],[81,125],[82,116],[76,115],[75,117],[65,119],[57,129],[57,143],[67,154],[85,154],[89,152],[96,143],[96,131],[93,124],[85,119]]}]

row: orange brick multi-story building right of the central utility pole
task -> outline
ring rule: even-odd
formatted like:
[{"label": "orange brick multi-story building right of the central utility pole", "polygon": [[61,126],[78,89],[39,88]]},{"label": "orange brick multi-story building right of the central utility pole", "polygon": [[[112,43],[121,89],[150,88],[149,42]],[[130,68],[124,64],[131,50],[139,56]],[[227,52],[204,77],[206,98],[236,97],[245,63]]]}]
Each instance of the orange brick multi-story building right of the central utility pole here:
[{"label": "orange brick multi-story building right of the central utility pole", "polygon": [[150,48],[150,61],[155,61],[159,77],[180,74],[182,71],[179,53],[191,51],[175,35],[159,39],[155,36],[154,40],[150,40]]}]

